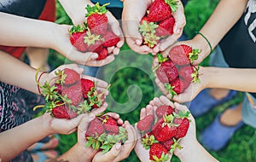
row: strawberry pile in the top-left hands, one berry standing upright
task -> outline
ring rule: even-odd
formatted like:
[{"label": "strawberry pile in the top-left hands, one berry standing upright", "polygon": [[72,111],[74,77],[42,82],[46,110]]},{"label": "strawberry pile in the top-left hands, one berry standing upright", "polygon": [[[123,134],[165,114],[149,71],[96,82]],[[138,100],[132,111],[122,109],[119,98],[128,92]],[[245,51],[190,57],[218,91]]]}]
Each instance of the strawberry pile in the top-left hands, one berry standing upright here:
[{"label": "strawberry pile in the top-left hands, one berry standing upright", "polygon": [[103,60],[108,56],[108,47],[119,43],[116,36],[108,26],[106,13],[107,4],[102,6],[96,3],[94,6],[87,5],[87,17],[84,26],[73,26],[70,29],[70,42],[81,52],[95,52],[99,56],[96,60]]}]

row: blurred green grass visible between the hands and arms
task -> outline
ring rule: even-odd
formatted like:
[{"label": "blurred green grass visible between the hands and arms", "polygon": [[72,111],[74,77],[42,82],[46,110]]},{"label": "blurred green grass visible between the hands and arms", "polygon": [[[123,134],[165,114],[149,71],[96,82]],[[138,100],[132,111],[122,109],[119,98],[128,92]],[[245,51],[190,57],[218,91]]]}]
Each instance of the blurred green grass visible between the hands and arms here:
[{"label": "blurred green grass visible between the hands and arms", "polygon": [[[187,20],[187,25],[184,28],[184,32],[188,38],[193,38],[195,36],[195,31],[201,29],[201,26],[207,21],[208,17],[212,14],[212,10],[216,7],[218,0],[190,0],[189,3],[185,6],[185,15]],[[57,2],[57,23],[59,24],[72,24],[72,21],[68,18],[64,9],[62,9],[60,3]],[[129,47],[125,44],[122,47],[123,51],[130,51],[131,55],[135,56],[129,50]],[[122,52],[120,55],[122,55]],[[135,56],[136,61],[132,62],[132,64],[141,64],[144,61],[143,55]],[[121,57],[118,55],[116,60]],[[49,55],[49,64],[51,67],[58,67],[61,64],[67,63],[66,58],[62,55],[57,54],[54,50],[51,50]],[[149,63],[151,64],[151,62]],[[207,61],[203,62],[204,66],[207,66]],[[113,68],[114,66],[112,66]],[[112,84],[110,88],[110,93],[113,99],[119,103],[125,103],[129,101],[129,97],[127,95],[127,89],[132,84],[137,84],[142,90],[142,101],[138,104],[137,108],[130,113],[121,114],[122,119],[127,119],[131,124],[135,124],[139,119],[140,109],[145,107],[149,101],[151,101],[154,96],[160,96],[160,92],[155,90],[154,76],[153,73],[143,72],[138,68],[133,67],[125,67],[119,69],[118,72],[114,74],[111,73],[113,69],[108,68],[108,66],[104,67],[102,72],[103,76],[105,75],[113,75],[110,79],[110,84]],[[239,103],[242,99],[243,94],[238,93],[236,97],[232,101],[228,101],[218,107],[212,109],[211,112],[206,115],[196,119],[197,126],[197,135],[199,136],[201,131],[207,127],[208,124],[212,122],[212,120],[231,105],[235,105]],[[68,136],[61,136],[60,145],[58,147],[58,151],[60,153],[65,153],[69,148],[73,146],[76,142],[76,133]],[[248,161],[253,162],[256,161],[256,131],[250,126],[243,126],[240,130],[236,132],[236,134],[231,138],[229,145],[221,151],[218,152],[210,152],[215,158],[219,161],[223,162],[242,162]],[[198,155],[200,156],[200,155]],[[131,153],[129,158],[123,161],[139,161],[134,152]],[[172,161],[177,162],[179,159],[176,157],[172,158]]]}]

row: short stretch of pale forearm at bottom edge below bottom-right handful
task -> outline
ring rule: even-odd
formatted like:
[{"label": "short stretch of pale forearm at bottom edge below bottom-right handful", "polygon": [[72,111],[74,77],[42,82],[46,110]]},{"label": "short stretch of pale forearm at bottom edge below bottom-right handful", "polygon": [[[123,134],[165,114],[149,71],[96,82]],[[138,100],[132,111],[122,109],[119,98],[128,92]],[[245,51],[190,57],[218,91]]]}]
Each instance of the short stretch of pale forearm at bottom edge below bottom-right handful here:
[{"label": "short stretch of pale forearm at bottom edge below bottom-right handful", "polygon": [[180,153],[178,158],[182,162],[190,162],[190,161],[197,161],[197,162],[217,162],[218,160],[212,157],[210,153],[207,152],[205,148],[201,146],[199,142],[193,143],[193,145],[188,145],[184,149],[182,153]]}]

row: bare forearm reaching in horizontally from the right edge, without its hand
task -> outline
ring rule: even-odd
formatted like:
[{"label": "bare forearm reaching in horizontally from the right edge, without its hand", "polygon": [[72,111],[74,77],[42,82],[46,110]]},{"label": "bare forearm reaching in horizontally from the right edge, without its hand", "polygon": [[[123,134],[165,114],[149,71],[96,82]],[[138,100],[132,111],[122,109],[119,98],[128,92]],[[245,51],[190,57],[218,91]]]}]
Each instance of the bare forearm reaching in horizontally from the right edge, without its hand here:
[{"label": "bare forearm reaching in horizontally from the right edge, without its hand", "polygon": [[207,88],[256,92],[256,69],[203,67]]}]

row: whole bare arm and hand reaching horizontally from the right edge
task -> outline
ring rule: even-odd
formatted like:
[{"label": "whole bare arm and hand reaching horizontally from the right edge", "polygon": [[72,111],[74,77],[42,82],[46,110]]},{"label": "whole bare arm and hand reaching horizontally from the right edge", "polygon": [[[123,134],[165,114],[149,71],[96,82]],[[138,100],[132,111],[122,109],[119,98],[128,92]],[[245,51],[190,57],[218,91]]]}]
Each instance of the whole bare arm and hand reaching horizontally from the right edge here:
[{"label": "whole bare arm and hand reaching horizontally from the right edge", "polygon": [[[220,88],[256,92],[256,69],[200,67],[199,74],[201,83],[191,83],[182,94],[173,97],[174,101],[191,101],[201,90],[207,88]],[[163,89],[163,84],[157,83]],[[166,90],[164,90],[166,91]],[[167,95],[171,97],[171,95]]]}]

